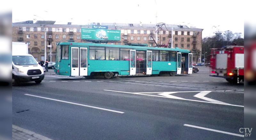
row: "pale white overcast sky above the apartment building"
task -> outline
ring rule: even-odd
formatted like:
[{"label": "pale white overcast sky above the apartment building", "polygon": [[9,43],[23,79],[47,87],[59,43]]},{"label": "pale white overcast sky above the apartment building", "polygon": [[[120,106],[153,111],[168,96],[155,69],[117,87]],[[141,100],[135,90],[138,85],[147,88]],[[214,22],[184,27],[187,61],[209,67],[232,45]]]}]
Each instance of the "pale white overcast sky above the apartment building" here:
[{"label": "pale white overcast sky above the apartment building", "polygon": [[72,22],[82,25],[89,22],[163,22],[204,29],[203,38],[212,36],[217,30],[241,32],[244,36],[244,2],[241,0],[27,0],[14,3],[12,22],[33,19],[54,20],[55,24]]}]

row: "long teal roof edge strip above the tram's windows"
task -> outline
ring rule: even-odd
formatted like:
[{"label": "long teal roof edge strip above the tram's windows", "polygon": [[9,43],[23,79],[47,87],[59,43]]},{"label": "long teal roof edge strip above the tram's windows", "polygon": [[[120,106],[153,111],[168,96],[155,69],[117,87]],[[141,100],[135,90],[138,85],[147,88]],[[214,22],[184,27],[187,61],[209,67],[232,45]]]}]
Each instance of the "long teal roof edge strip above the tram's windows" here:
[{"label": "long teal roof edge strip above the tram's windows", "polygon": [[190,50],[180,48],[160,48],[160,47],[146,47],[146,46],[129,46],[129,45],[111,45],[111,44],[97,44],[97,43],[78,43],[78,42],[60,42],[59,45],[74,45],[74,46],[93,46],[93,47],[113,47],[113,48],[129,48],[135,50],[162,50],[162,51],[178,51],[181,53],[190,53]]}]

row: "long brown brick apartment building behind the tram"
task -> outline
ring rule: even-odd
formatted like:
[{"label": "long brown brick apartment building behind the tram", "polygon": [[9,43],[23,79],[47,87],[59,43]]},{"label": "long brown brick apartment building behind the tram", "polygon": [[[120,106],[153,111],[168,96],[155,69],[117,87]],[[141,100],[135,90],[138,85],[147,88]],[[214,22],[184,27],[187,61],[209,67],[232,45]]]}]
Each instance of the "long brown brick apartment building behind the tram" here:
[{"label": "long brown brick apartment building behind the tram", "polygon": [[[186,25],[165,24],[162,30],[156,32],[155,24],[132,24],[132,23],[91,23],[89,25],[55,24],[55,21],[24,21],[12,24],[12,41],[26,42],[29,46],[29,53],[37,61],[44,60],[44,52],[47,58],[56,60],[57,42],[83,42],[81,39],[82,28],[92,28],[92,25],[107,26],[109,30],[120,30],[120,42],[108,44],[125,45],[127,43],[148,44],[148,47],[156,46],[154,39],[157,33],[157,44],[191,50],[194,53],[194,61],[200,61],[202,48],[202,31],[195,27]],[[172,32],[172,39],[171,39]],[[45,50],[45,45],[46,50]],[[196,57],[196,53],[200,53]]]}]

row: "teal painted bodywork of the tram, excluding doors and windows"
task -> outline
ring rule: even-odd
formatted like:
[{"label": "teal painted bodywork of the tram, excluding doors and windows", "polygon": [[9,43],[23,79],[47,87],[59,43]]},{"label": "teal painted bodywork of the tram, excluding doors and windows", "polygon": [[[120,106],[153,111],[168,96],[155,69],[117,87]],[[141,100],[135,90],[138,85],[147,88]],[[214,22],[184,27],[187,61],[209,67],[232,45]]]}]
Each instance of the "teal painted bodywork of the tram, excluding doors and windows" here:
[{"label": "teal painted bodywork of the tram, excluding doors and windows", "polygon": [[[92,72],[118,72],[119,75],[130,75],[130,61],[129,60],[90,60],[90,46],[92,47],[113,47],[126,48],[136,51],[175,51],[180,53],[190,53],[189,50],[179,48],[159,48],[159,47],[145,47],[145,46],[127,46],[127,45],[108,45],[96,43],[75,43],[75,42],[61,42],[59,45],[68,45],[69,59],[61,61],[56,57],[56,69],[54,72],[58,75],[71,76],[71,47],[87,48],[88,55],[88,75]],[[57,53],[58,54],[58,53]],[[177,57],[177,56],[176,56]],[[57,72],[59,70],[59,72]],[[152,61],[152,74],[159,74],[163,71],[177,71],[176,61]]]}]

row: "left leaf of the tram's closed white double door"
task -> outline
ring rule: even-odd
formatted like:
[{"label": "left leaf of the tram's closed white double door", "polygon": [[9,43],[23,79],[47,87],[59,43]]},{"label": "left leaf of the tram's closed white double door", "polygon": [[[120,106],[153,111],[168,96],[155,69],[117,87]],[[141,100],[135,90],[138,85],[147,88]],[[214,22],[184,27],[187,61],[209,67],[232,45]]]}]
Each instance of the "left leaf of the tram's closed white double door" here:
[{"label": "left leaf of the tram's closed white double door", "polygon": [[71,76],[79,76],[79,48],[71,47]]}]

